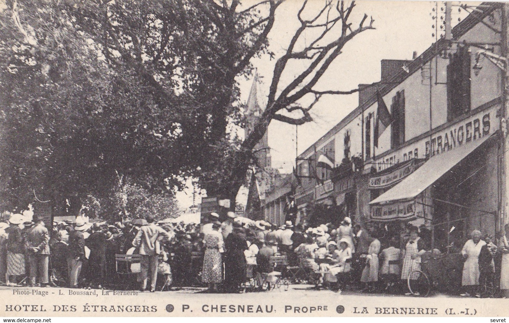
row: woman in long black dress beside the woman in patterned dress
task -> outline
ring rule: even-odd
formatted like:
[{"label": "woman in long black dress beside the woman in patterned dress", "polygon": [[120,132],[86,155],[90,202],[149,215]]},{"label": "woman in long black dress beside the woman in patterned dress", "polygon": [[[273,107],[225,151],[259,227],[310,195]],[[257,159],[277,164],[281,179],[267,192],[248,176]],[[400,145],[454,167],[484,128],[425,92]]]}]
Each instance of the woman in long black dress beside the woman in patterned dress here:
[{"label": "woman in long black dress beside the woman in patterned dress", "polygon": [[239,292],[245,278],[247,250],[246,233],[242,224],[233,223],[232,233],[224,240],[224,283],[227,292]]}]

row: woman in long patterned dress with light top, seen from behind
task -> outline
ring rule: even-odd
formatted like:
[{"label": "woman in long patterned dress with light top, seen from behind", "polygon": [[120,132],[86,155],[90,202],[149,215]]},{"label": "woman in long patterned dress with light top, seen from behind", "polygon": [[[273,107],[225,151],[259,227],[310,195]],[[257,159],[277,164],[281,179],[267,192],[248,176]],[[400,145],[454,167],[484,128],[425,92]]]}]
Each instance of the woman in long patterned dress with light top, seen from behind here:
[{"label": "woman in long patterned dress with light top, seen from behind", "polygon": [[202,282],[209,284],[210,291],[217,291],[217,284],[222,282],[223,238],[218,231],[221,222],[215,221],[212,230],[207,232],[203,240],[205,253],[203,257]]}]

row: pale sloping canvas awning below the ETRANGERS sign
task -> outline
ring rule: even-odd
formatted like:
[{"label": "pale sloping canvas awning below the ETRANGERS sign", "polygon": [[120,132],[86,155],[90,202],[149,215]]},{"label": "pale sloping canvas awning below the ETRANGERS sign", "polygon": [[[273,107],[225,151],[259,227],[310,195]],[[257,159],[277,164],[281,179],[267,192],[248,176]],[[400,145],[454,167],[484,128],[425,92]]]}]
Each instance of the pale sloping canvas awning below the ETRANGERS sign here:
[{"label": "pale sloping canvas awning below the ETRANGERS sign", "polygon": [[484,136],[468,144],[464,143],[462,146],[451,151],[433,156],[417,170],[408,175],[403,181],[372,200],[370,205],[374,207],[375,205],[394,204],[414,200],[417,195],[435,183],[443,174],[462,161],[488,138],[490,138],[490,136]]}]

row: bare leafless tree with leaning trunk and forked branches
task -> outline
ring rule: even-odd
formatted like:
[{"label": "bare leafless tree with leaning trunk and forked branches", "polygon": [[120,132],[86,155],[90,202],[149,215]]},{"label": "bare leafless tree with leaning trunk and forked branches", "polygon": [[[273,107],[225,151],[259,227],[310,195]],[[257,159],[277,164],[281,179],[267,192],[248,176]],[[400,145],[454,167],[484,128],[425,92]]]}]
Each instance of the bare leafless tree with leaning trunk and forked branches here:
[{"label": "bare leafless tree with leaning trunk and forked branches", "polygon": [[[308,7],[314,9],[309,10]],[[236,196],[244,182],[246,170],[253,163],[253,148],[272,120],[302,125],[313,120],[309,111],[322,96],[347,95],[358,91],[323,89],[323,83],[320,84],[327,69],[341,55],[345,44],[360,33],[374,29],[374,19],[366,21],[368,17],[365,14],[358,19],[357,25],[353,25],[351,20],[356,16],[352,16],[354,7],[355,1],[327,1],[319,10],[316,10],[316,6],[308,6],[307,1],[302,3],[296,16],[300,26],[286,47],[286,52],[277,58],[265,110],[254,125],[254,130],[229,156],[231,168],[223,175],[227,177],[227,194],[232,198]],[[305,68],[289,83],[285,83],[281,76],[295,66]],[[296,115],[297,111],[299,114]]]}]

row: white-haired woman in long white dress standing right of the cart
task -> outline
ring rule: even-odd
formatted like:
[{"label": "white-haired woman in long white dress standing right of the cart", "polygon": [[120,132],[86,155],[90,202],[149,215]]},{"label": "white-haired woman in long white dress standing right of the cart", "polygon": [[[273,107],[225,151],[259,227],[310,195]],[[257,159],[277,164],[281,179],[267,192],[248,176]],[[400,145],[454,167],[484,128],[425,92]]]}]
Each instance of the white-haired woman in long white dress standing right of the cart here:
[{"label": "white-haired woman in long white dress standing right of the cart", "polygon": [[461,293],[461,296],[475,295],[480,297],[479,293],[479,253],[480,249],[486,245],[484,240],[481,240],[481,233],[479,230],[473,230],[470,234],[472,239],[468,240],[461,254],[465,258],[463,264],[463,276],[461,279],[461,285],[465,289],[465,292]]}]

